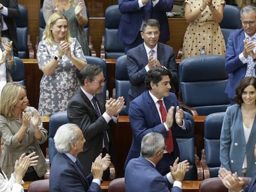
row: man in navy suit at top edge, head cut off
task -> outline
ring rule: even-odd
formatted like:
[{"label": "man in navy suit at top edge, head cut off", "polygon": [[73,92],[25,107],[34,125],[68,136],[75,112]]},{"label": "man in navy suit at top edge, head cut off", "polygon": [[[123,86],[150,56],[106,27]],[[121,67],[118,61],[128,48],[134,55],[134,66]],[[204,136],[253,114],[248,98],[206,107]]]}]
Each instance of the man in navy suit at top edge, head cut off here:
[{"label": "man in navy suit at top edge, head cut off", "polygon": [[156,19],[161,24],[160,42],[169,40],[166,12],[173,9],[173,0],[119,0],[122,14],[117,35],[124,42],[124,52],[142,43],[140,28],[143,20]]}]

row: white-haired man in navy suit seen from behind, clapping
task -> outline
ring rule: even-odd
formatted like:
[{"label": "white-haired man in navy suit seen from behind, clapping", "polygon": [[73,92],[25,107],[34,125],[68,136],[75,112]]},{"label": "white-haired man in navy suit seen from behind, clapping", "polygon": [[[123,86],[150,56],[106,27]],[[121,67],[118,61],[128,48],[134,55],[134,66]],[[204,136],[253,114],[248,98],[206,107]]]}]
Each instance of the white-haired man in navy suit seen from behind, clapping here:
[{"label": "white-haired man in navy suit seen from behind, clapping", "polygon": [[92,173],[86,175],[77,156],[83,151],[85,138],[79,127],[67,123],[56,131],[55,147],[58,151],[51,162],[49,190],[54,191],[101,191],[103,171],[111,163],[110,156],[101,159],[100,154],[92,164]]}]

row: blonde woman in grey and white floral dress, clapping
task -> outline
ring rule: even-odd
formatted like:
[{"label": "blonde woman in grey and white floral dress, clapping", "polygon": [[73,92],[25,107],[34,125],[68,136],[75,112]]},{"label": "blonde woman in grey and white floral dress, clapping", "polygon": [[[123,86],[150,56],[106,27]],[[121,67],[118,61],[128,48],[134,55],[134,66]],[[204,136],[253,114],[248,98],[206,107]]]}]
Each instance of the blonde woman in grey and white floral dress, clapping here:
[{"label": "blonde woman in grey and white floral dress, clapping", "polygon": [[67,102],[79,88],[76,71],[87,64],[76,38],[70,38],[67,18],[55,12],[49,17],[37,51],[43,71],[38,111],[42,116],[66,111]]}]

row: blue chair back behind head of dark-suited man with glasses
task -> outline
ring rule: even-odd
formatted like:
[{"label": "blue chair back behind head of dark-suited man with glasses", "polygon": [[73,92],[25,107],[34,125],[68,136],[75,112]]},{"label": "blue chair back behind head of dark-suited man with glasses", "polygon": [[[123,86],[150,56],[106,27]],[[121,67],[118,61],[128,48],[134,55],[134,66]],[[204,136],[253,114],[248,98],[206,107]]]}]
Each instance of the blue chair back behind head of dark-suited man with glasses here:
[{"label": "blue chair back behind head of dark-suited man with glasses", "polygon": [[102,93],[103,95],[105,95],[105,98],[108,98],[108,96],[106,95],[106,90],[107,90],[107,85],[108,85],[108,69],[107,69],[107,65],[106,62],[101,59],[100,57],[93,57],[93,56],[85,56],[87,63],[88,64],[95,64],[95,65],[100,65],[100,67],[103,69],[103,75],[105,77],[105,86],[102,89]]}]

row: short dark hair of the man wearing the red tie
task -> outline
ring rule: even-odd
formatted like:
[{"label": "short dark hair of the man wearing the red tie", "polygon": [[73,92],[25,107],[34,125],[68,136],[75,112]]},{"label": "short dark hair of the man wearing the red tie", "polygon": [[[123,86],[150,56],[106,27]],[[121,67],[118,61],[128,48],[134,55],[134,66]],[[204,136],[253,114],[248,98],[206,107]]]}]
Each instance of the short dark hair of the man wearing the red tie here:
[{"label": "short dark hair of the man wearing the red tie", "polygon": [[146,90],[151,90],[150,83],[153,82],[155,85],[158,84],[163,79],[163,76],[168,75],[171,80],[171,72],[164,67],[156,67],[150,69],[145,78],[145,88]]}]

